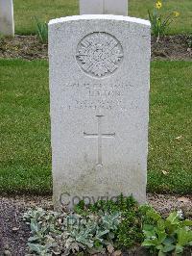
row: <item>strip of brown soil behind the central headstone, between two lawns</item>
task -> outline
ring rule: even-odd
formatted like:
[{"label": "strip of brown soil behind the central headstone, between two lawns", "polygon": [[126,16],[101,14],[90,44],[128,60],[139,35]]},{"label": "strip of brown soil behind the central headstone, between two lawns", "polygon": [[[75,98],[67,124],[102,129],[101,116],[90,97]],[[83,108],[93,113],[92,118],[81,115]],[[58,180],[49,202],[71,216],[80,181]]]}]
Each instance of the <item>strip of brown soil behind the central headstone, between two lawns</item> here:
[{"label": "strip of brown soil behind the central headstone, between two lawns", "polygon": [[[192,49],[188,47],[188,36],[176,35],[152,38],[152,60],[192,61]],[[36,36],[15,36],[0,38],[0,59],[19,58],[25,60],[48,59],[47,44],[42,44]]]}]

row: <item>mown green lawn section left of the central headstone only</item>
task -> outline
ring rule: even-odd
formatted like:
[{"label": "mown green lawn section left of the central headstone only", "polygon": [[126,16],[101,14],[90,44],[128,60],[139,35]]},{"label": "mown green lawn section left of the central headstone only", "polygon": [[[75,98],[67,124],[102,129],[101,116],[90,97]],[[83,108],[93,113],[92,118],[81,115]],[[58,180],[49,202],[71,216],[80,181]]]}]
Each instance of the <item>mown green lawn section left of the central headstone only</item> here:
[{"label": "mown green lawn section left of the central headstone only", "polygon": [[0,91],[0,192],[50,192],[48,64],[0,61]]}]

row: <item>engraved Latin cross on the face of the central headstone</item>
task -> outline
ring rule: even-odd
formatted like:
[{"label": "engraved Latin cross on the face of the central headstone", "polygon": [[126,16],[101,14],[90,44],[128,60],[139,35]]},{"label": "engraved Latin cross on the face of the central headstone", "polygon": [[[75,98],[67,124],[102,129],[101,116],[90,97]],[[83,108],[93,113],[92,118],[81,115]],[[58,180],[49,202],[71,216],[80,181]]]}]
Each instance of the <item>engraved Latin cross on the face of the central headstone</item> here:
[{"label": "engraved Latin cross on the face of the central headstone", "polygon": [[114,138],[115,133],[105,134],[102,132],[102,117],[104,115],[96,115],[98,118],[98,133],[95,134],[87,134],[84,133],[84,138],[97,138],[98,140],[98,163],[97,166],[102,166],[102,139],[103,138]]}]

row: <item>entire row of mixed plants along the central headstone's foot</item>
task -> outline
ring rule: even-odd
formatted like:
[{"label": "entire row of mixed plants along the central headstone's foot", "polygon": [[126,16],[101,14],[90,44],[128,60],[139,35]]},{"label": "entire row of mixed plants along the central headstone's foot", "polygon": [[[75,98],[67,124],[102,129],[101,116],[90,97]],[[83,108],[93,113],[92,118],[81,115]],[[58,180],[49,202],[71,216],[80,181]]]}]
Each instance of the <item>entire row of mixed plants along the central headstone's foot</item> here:
[{"label": "entire row of mixed plants along the central headstone's foot", "polygon": [[23,216],[30,225],[29,252],[36,255],[121,253],[145,246],[152,255],[181,255],[192,245],[192,221],[180,212],[162,218],[150,206],[139,207],[131,197],[116,201],[80,202],[74,212],[29,210]]}]

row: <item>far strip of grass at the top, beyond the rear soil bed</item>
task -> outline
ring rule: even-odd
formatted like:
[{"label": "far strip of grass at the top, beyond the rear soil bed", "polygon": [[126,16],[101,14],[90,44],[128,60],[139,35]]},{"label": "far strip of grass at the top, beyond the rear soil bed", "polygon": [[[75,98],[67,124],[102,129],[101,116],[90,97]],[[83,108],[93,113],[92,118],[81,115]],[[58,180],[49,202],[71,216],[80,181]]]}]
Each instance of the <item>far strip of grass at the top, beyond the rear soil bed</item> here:
[{"label": "far strip of grass at the top, beyond the rear soil bed", "polygon": [[[148,9],[155,0],[129,0],[129,15],[148,19]],[[192,32],[192,0],[164,0],[163,13],[180,12],[171,25],[169,34]],[[48,21],[60,16],[79,13],[79,0],[14,0],[15,31],[17,34],[35,34],[35,16]]]}]

